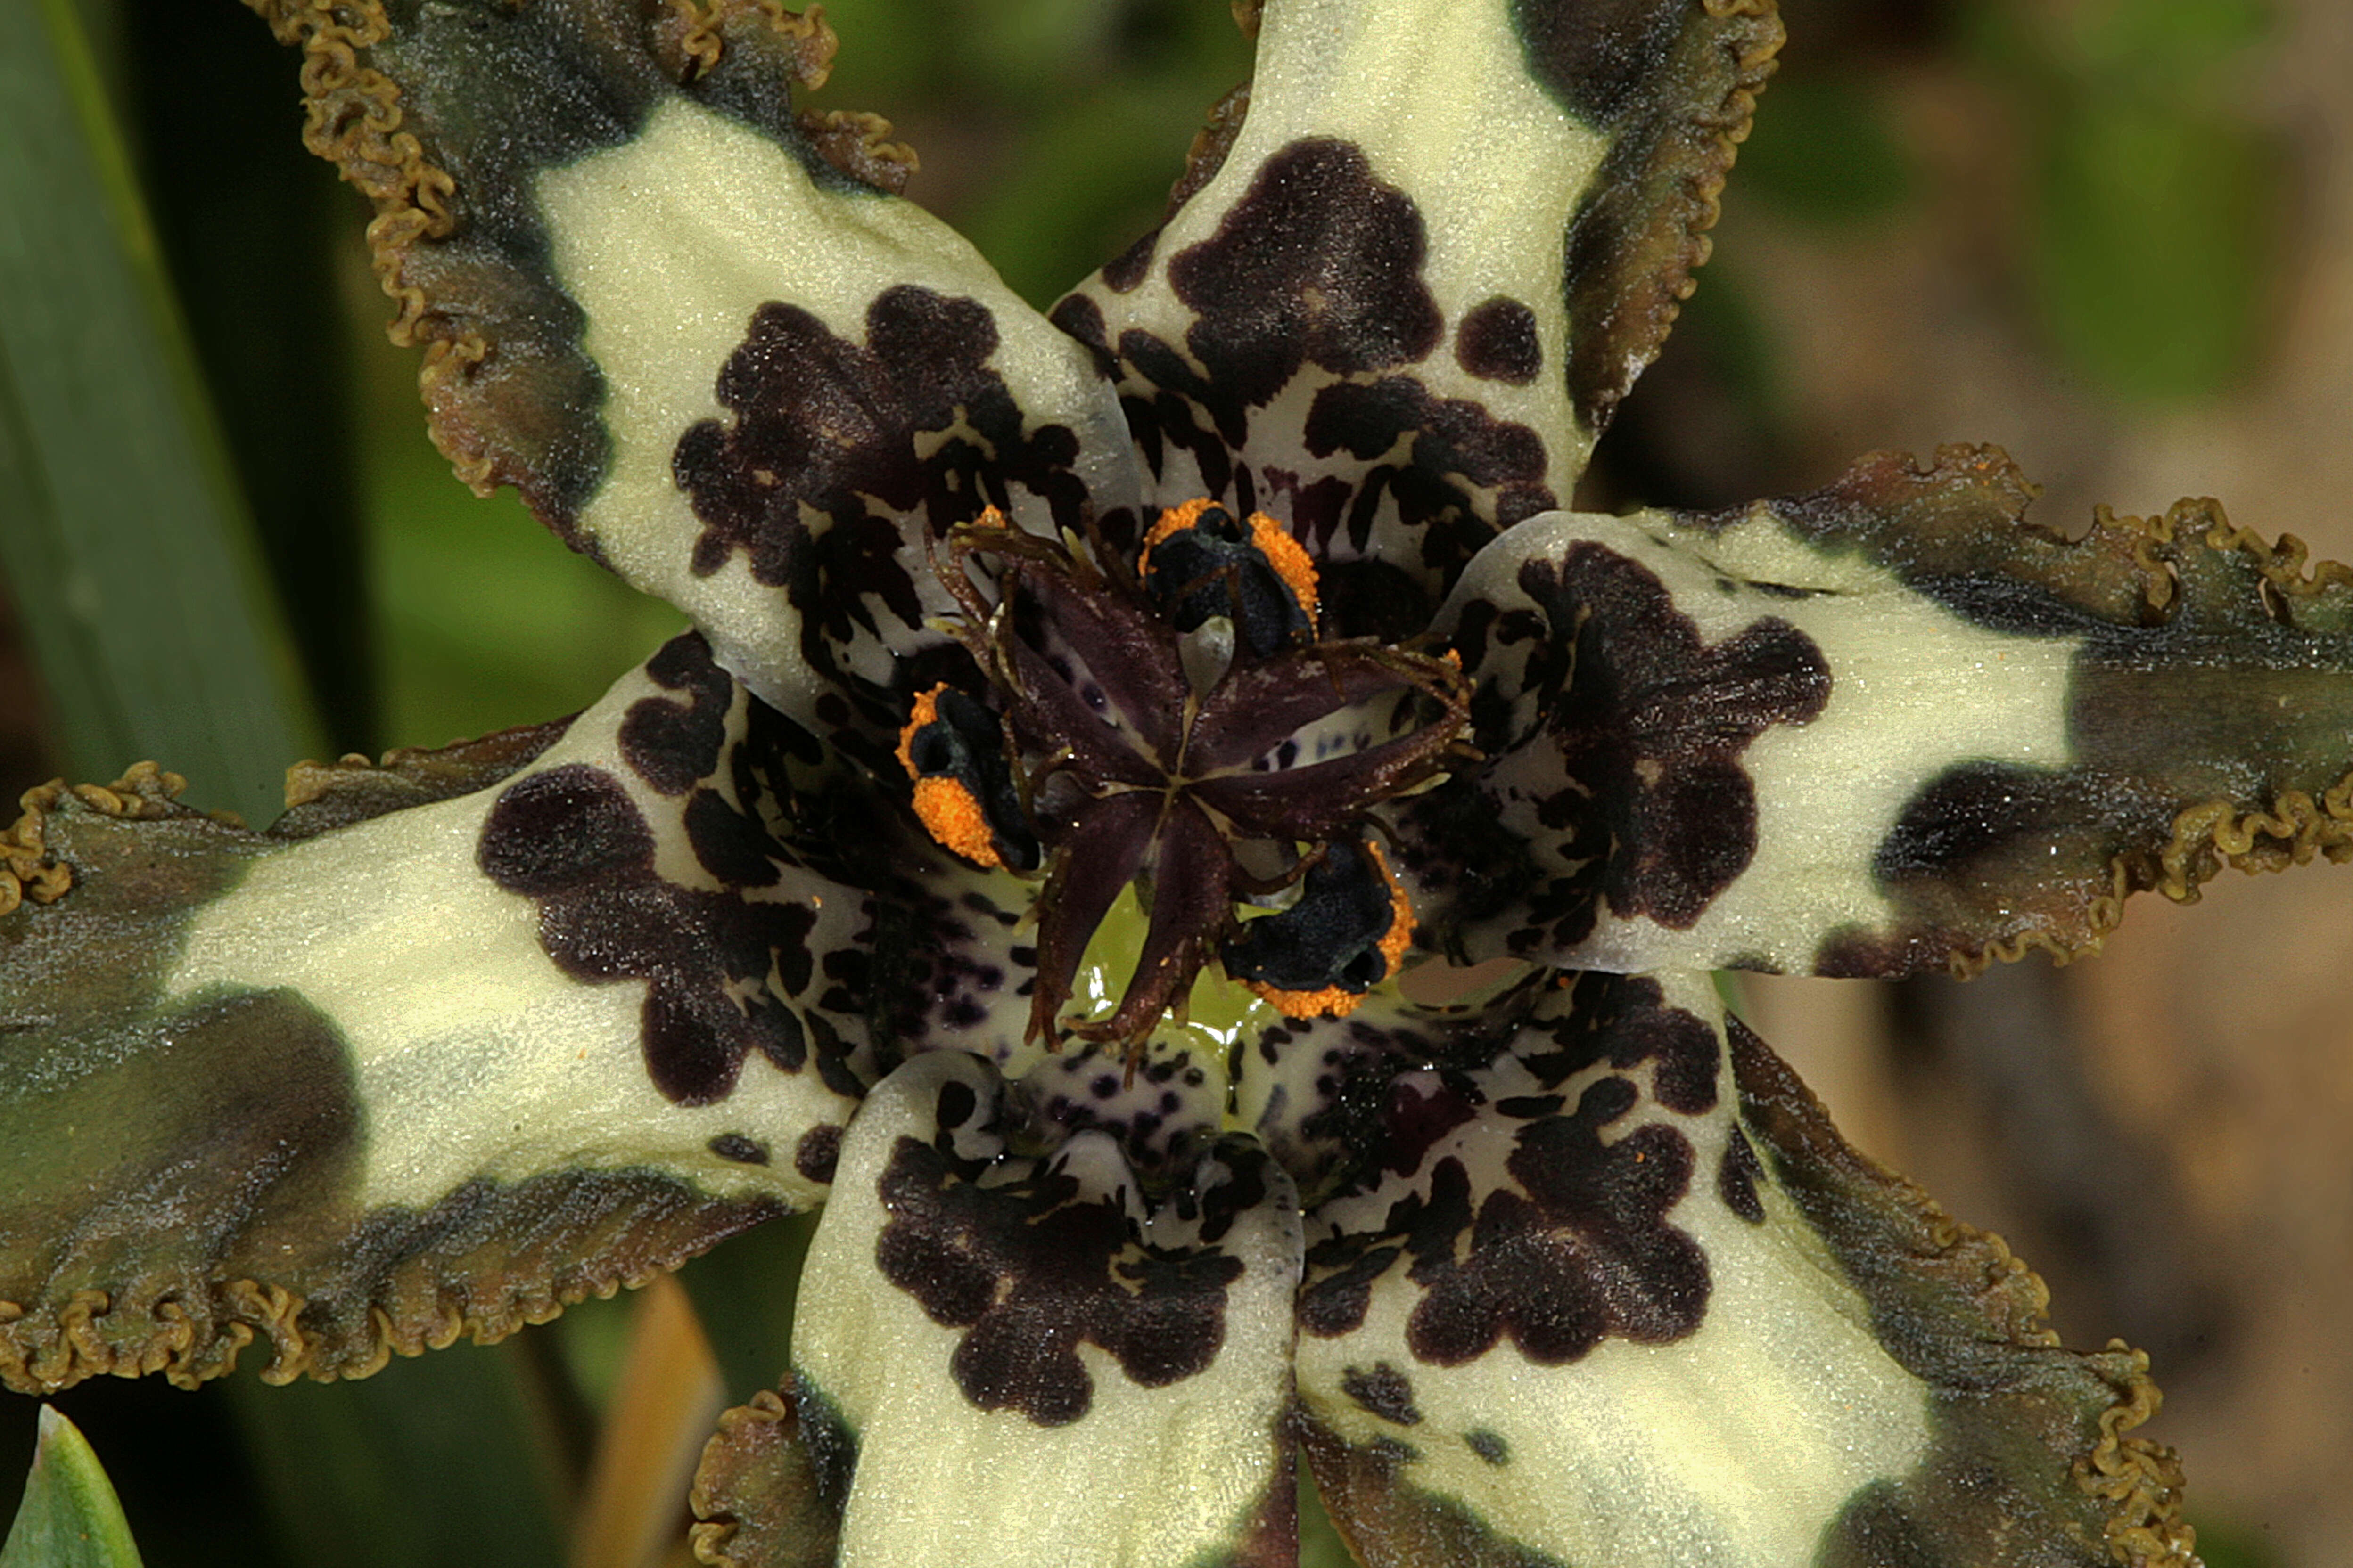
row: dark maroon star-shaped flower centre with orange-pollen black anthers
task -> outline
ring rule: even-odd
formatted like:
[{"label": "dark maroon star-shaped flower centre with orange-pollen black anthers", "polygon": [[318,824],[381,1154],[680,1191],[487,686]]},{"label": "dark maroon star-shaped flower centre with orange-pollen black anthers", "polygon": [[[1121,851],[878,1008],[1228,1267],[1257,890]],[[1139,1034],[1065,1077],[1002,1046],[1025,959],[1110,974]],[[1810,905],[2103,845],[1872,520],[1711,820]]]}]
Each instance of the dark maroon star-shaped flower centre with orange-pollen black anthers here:
[{"label": "dark maroon star-shaped flower centre with orange-pollen black anthers", "polygon": [[[1162,510],[1132,567],[991,508],[939,569],[979,682],[915,698],[899,764],[946,849],[1042,877],[1031,1039],[1141,1046],[1212,959],[1294,1018],[1395,973],[1414,917],[1372,811],[1466,757],[1452,658],[1325,639],[1306,550],[1209,501]],[[1148,910],[1127,990],[1066,1025],[1127,886]]]}]

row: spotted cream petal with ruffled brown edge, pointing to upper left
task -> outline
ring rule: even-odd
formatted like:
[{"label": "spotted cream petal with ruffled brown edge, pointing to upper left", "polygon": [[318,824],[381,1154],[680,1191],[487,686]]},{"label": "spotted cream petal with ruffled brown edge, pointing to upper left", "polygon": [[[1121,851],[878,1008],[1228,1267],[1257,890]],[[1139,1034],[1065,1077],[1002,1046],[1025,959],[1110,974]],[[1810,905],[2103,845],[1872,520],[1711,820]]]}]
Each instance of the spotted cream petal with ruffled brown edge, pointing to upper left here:
[{"label": "spotted cream petal with ruffled brown edge, pointing to upper left", "polygon": [[821,733],[887,733],[984,505],[1132,505],[1082,348],[882,186],[880,122],[793,113],[833,35],[758,0],[252,0],[311,146],[379,207],[435,435],[659,592]]}]

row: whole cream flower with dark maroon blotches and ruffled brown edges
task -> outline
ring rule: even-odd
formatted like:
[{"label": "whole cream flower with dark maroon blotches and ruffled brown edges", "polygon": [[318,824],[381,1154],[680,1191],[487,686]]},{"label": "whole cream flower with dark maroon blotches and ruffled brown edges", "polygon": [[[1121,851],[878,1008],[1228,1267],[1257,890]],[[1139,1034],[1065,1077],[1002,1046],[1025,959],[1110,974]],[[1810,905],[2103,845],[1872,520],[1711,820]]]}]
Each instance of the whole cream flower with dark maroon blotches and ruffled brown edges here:
[{"label": "whole cream flower with dark maroon blotches and ruffled brown edges", "polygon": [[793,108],[814,12],[254,5],[459,473],[694,630],[266,832],[28,797],[12,1387],[358,1378],[824,1204],[708,1561],[1282,1563],[1301,1458],[1374,1566],[2191,1561],[2146,1361],[1708,971],[2344,858],[2353,578],[1991,449],[1569,510],[1769,0],[1240,5],[1045,315]]}]

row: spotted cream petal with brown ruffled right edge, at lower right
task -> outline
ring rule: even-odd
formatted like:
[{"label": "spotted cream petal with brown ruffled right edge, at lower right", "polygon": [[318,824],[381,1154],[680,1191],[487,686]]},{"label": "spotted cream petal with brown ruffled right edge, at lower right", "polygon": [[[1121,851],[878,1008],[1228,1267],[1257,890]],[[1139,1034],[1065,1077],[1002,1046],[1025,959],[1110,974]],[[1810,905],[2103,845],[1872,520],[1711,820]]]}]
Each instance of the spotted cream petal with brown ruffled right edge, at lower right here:
[{"label": "spotted cream petal with brown ruffled right edge, at lower right", "polygon": [[1308,1222],[1306,1453],[1365,1563],[2169,1549],[2162,1458],[2118,1436],[2139,1359],[2057,1349],[2033,1276],[1727,1041],[1706,976],[1520,1011],[1492,1060],[1393,1079]]}]

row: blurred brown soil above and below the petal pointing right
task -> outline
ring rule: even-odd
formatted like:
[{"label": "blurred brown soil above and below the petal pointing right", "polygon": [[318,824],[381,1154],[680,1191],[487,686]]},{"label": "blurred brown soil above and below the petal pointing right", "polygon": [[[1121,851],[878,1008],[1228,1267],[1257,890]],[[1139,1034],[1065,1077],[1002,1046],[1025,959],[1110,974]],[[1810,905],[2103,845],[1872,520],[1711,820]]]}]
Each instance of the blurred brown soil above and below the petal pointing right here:
[{"label": "blurred brown soil above and below the petal pointing right", "polygon": [[[2005,108],[1960,66],[1899,92],[1937,174],[1925,209],[1824,240],[1734,195],[1720,244],[1765,296],[1798,480],[1993,440],[2057,527],[2212,494],[2353,559],[2353,7],[2280,0],[2249,66],[2247,113],[2292,148],[2289,254],[2264,364],[2207,407],[2120,409],[2035,343],[2000,252]],[[2071,1342],[2158,1349],[2193,1516],[2268,1561],[2353,1563],[2353,870],[2144,896],[2064,971],[1899,997],[1772,980],[1753,1001],[1859,1145],[2012,1234]]]}]

